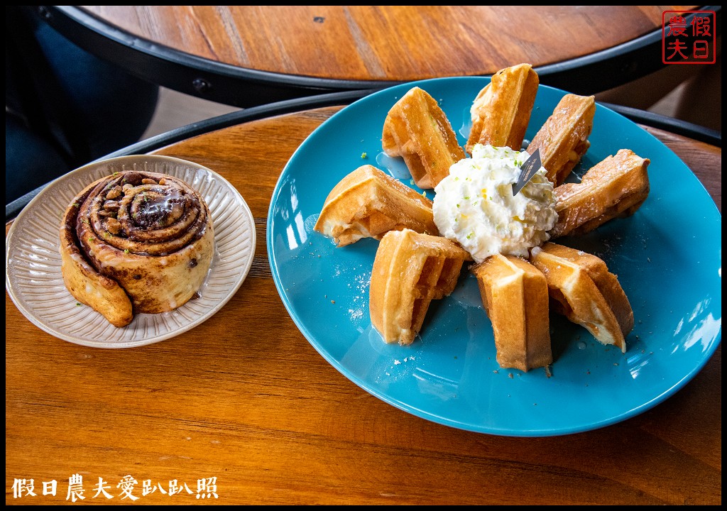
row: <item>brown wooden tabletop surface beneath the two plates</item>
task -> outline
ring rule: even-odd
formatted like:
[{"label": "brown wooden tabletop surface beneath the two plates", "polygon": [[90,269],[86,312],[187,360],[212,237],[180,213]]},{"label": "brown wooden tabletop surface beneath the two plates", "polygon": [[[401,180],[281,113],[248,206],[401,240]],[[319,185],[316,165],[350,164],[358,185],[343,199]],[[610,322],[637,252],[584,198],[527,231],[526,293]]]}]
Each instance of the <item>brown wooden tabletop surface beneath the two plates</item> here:
[{"label": "brown wooden tabletop surface beneath the two plates", "polygon": [[[83,503],[128,503],[117,485],[132,475],[145,504],[203,502],[198,480],[209,478],[215,504],[720,504],[721,347],[653,409],[548,438],[428,422],[364,392],[313,349],[273,283],[266,215],[289,156],[339,108],[273,110],[281,115],[154,142],[163,146],[154,153],[226,177],[257,226],[243,286],[195,329],[140,348],[83,347],[33,326],[6,293],[6,503],[65,504],[79,474]],[[721,209],[721,150],[649,131]],[[15,479],[31,478],[36,496],[14,499]],[[99,478],[113,499],[93,498]],[[43,494],[50,480],[55,496]],[[144,480],[156,491],[142,496]],[[182,492],[170,496],[169,481]]]}]

